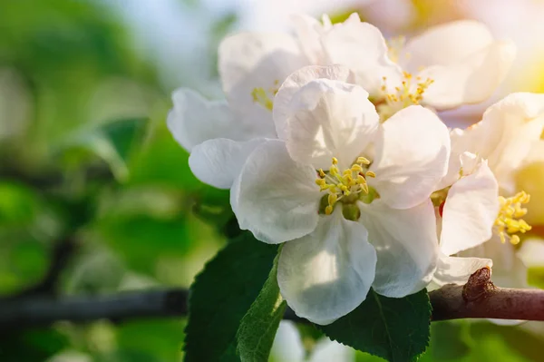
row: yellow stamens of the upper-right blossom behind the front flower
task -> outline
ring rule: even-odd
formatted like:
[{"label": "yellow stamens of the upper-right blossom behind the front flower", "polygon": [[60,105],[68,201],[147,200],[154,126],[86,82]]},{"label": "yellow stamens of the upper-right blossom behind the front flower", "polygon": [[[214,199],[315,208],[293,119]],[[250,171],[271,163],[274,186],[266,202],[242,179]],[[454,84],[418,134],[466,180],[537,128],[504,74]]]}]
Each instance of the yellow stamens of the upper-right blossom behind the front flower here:
[{"label": "yellow stamens of the upper-right blossom behind the front flower", "polygon": [[417,105],[423,100],[423,93],[434,81],[430,78],[422,80],[421,77],[415,77],[408,72],[403,72],[403,83],[400,87],[395,87],[393,93],[387,92],[387,78],[384,77],[382,93],[384,95],[381,103],[376,105],[376,110],[380,114],[382,122],[386,121],[394,113],[411,105]]}]

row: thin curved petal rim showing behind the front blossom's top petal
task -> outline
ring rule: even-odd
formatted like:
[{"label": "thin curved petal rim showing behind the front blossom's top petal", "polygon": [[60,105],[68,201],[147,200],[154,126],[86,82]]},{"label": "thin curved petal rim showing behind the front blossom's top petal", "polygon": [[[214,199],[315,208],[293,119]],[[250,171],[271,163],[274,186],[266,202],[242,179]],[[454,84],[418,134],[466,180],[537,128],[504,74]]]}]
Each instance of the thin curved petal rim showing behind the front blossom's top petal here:
[{"label": "thin curved petal rim showing behind the front blossom's top petal", "polygon": [[348,68],[340,65],[310,65],[289,75],[277,91],[274,99],[274,123],[276,124],[277,137],[280,140],[287,140],[287,118],[291,113],[290,104],[293,102],[295,94],[307,83],[322,78],[346,83],[355,82],[353,73]]}]

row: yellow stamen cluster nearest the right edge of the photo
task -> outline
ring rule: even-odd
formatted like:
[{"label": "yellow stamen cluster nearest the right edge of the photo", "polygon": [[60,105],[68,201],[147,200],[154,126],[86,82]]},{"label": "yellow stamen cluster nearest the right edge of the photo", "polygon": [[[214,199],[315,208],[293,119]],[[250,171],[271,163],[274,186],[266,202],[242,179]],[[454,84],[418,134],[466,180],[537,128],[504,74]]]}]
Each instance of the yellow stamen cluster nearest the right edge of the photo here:
[{"label": "yellow stamen cluster nearest the right edge of the photo", "polygon": [[510,243],[516,245],[520,242],[520,237],[516,233],[525,233],[531,229],[525,220],[520,219],[527,213],[527,209],[521,205],[528,203],[529,200],[529,194],[525,191],[510,198],[499,196],[500,210],[495,227],[502,243],[510,240]]}]

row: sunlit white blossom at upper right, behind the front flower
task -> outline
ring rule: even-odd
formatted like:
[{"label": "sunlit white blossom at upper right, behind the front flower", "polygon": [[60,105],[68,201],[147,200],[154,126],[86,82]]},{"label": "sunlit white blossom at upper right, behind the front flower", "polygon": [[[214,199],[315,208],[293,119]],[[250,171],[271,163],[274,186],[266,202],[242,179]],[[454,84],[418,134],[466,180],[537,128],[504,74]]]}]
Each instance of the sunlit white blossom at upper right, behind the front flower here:
[{"label": "sunlit white blossom at upper right, behind the front flower", "polygon": [[516,53],[512,42],[495,40],[471,20],[434,26],[407,42],[385,41],[356,14],[343,24],[305,15],[295,23],[308,59],[349,67],[385,118],[413,103],[436,110],[481,103],[505,78]]}]

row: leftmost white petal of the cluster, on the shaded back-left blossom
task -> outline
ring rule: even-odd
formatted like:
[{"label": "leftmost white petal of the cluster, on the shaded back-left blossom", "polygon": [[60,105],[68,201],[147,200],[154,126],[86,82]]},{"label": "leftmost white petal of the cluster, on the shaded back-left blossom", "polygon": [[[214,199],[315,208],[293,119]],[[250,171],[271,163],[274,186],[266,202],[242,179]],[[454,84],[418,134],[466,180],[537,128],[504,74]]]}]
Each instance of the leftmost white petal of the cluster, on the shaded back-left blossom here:
[{"label": "leftmost white petal of the cluster, on the shaded back-left blossom", "polygon": [[174,107],[167,125],[181,147],[191,151],[197,144],[214,138],[242,141],[247,132],[226,102],[204,99],[199,93],[180,88],[172,93]]}]

